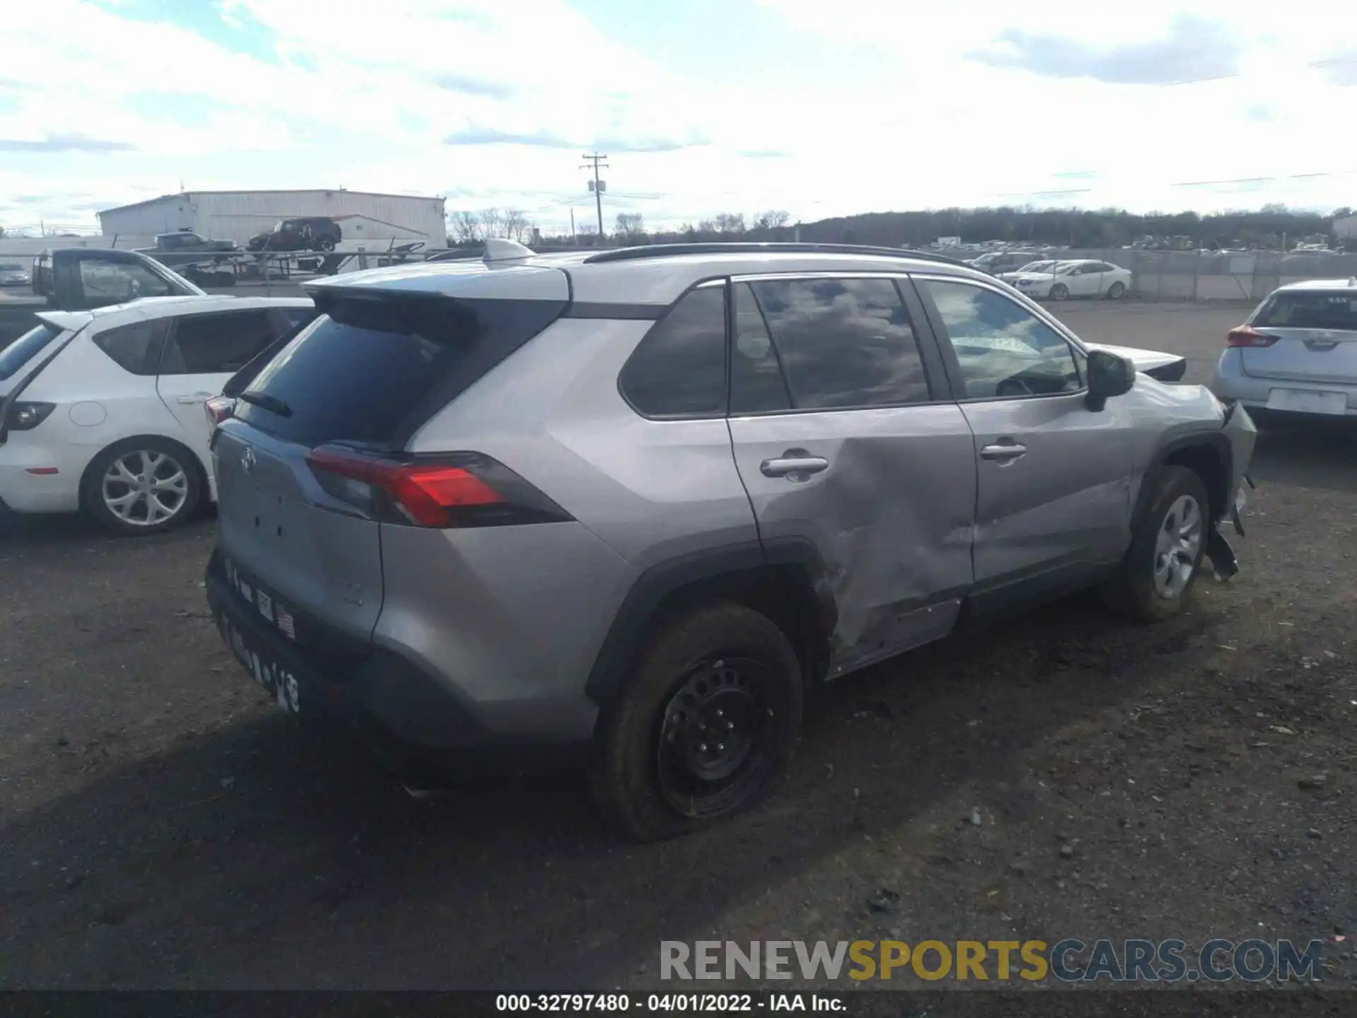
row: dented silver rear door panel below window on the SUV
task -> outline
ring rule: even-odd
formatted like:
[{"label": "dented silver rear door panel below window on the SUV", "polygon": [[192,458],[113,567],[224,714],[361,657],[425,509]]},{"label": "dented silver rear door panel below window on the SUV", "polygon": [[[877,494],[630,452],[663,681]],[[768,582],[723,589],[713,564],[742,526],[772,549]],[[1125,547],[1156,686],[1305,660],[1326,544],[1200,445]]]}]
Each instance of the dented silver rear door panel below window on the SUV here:
[{"label": "dented silver rear door panel below window on the SUV", "polygon": [[[830,673],[944,635],[973,581],[976,461],[955,403],[730,419],[761,540],[820,550],[837,608]],[[769,476],[809,455],[826,467]]]}]

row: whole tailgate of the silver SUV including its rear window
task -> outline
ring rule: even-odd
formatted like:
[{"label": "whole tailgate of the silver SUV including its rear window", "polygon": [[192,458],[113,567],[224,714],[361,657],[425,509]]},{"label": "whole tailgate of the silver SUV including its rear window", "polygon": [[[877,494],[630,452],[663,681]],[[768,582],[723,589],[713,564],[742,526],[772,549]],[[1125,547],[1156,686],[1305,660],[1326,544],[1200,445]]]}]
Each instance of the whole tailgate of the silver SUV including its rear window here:
[{"label": "whole tailgate of the silver SUV including its rear window", "polygon": [[304,618],[370,639],[384,596],[377,495],[313,471],[312,451],[402,457],[421,425],[569,299],[566,276],[548,269],[472,269],[445,284],[457,296],[316,286],[319,318],[248,383],[250,399],[216,432],[218,551],[288,605],[300,643],[316,627]]}]

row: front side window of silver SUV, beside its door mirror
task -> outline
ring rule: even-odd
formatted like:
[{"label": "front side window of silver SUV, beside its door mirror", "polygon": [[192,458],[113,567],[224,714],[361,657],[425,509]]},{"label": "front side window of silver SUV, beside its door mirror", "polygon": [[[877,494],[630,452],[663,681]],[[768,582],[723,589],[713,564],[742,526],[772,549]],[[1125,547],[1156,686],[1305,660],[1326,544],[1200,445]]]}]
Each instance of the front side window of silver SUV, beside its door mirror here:
[{"label": "front side window of silver SUV, beside its door mirror", "polygon": [[1018,303],[965,282],[920,281],[961,364],[966,399],[1077,392],[1071,345]]}]

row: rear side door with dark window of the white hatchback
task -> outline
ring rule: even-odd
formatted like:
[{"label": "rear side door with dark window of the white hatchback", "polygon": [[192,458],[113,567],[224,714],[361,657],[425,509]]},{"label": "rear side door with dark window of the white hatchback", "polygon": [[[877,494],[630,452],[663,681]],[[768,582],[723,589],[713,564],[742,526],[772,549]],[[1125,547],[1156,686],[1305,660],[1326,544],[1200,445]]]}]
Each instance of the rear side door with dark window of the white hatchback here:
[{"label": "rear side door with dark window of the white hatchback", "polygon": [[212,426],[202,404],[288,327],[288,319],[274,308],[182,315],[171,320],[156,391],[183,426],[189,447],[204,461]]}]

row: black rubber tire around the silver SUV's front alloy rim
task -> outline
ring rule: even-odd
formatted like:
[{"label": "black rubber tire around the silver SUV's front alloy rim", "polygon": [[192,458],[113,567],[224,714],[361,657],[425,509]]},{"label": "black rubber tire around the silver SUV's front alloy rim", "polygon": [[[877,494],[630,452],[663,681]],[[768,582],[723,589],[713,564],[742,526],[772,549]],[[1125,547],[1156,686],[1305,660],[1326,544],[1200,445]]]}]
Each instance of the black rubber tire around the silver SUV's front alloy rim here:
[{"label": "black rubber tire around the silver SUV's front alloy rim", "polygon": [[[1155,494],[1145,519],[1132,535],[1130,551],[1120,576],[1103,588],[1105,603],[1121,615],[1140,622],[1163,622],[1182,611],[1201,573],[1210,532],[1210,499],[1201,476],[1186,467],[1164,467],[1153,480]],[[1174,596],[1155,589],[1156,540],[1170,510],[1183,497],[1196,499],[1202,514],[1201,543],[1193,562],[1191,577]]]}]

